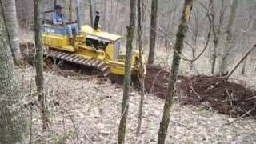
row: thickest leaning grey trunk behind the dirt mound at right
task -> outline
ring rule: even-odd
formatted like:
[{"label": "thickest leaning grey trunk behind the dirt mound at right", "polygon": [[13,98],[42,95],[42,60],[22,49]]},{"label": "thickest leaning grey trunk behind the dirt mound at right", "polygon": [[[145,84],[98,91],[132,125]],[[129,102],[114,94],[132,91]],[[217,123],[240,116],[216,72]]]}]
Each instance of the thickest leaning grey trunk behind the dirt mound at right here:
[{"label": "thickest leaning grey trunk behind the dirt mound at right", "polygon": [[228,22],[228,26],[226,29],[226,42],[224,46],[224,50],[222,52],[222,58],[219,65],[219,73],[225,74],[227,71],[228,66],[228,58],[230,55],[230,49],[231,49],[231,41],[232,41],[232,27],[234,25],[234,19],[236,17],[236,11],[238,9],[238,0],[233,0],[232,6],[231,6],[231,12],[230,12],[230,19]]}]

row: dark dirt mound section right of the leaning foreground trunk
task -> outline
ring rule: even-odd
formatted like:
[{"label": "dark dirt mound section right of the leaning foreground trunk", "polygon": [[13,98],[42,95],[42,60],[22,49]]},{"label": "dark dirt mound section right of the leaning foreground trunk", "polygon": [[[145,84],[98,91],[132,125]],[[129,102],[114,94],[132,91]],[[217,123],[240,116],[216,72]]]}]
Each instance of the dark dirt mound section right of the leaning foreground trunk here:
[{"label": "dark dirt mound section right of the leaning foreground trunk", "polygon": [[256,92],[240,84],[215,76],[198,75],[182,79],[179,86],[186,91],[183,104],[209,102],[210,107],[222,114],[237,117],[249,111],[248,115],[256,116]]}]

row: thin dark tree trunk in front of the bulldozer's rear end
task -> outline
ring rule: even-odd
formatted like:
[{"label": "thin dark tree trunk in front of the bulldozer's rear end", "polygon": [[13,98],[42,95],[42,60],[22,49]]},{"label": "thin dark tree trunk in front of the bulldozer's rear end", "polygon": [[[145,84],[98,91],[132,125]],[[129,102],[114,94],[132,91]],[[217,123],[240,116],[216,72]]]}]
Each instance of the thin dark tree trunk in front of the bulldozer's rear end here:
[{"label": "thin dark tree trunk in front of the bulldozer's rear end", "polygon": [[42,52],[42,14],[41,5],[42,0],[34,0],[34,43],[36,47],[35,54],[35,69],[36,76],[35,82],[38,91],[38,102],[40,103],[40,109],[42,111],[42,128],[46,129],[48,126],[47,118],[47,107],[46,107],[46,97],[43,94],[43,52]]}]

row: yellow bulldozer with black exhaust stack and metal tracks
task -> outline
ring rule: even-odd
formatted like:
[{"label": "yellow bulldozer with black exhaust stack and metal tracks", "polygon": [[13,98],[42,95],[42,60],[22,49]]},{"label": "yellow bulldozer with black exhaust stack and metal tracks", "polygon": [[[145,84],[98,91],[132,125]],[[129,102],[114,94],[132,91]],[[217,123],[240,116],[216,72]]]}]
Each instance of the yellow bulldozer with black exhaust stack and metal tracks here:
[{"label": "yellow bulldozer with black exhaust stack and metal tracks", "polygon": [[[79,0],[76,2],[76,15],[79,34],[74,36],[74,44],[70,43],[66,26],[54,26],[50,20],[42,22],[42,42],[46,47],[44,55],[81,66],[100,70],[104,76],[108,74],[125,74],[126,54],[120,53],[121,36],[102,31],[98,26],[100,15],[96,14],[94,26],[81,26]],[[142,63],[144,60],[142,58]],[[138,74],[140,60],[138,50],[131,57],[132,74]]]}]

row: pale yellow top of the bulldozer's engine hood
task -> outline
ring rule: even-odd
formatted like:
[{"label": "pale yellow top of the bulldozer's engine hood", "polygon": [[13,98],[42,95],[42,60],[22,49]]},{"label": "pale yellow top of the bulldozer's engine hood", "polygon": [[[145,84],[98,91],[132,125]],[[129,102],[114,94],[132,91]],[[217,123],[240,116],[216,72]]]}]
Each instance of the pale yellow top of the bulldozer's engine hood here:
[{"label": "pale yellow top of the bulldozer's engine hood", "polygon": [[103,42],[116,42],[122,37],[116,34],[110,34],[101,30],[94,30],[91,26],[82,26],[82,32],[86,33],[86,38],[96,39]]}]

